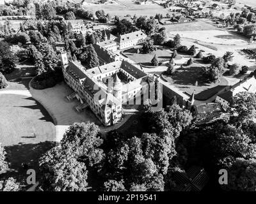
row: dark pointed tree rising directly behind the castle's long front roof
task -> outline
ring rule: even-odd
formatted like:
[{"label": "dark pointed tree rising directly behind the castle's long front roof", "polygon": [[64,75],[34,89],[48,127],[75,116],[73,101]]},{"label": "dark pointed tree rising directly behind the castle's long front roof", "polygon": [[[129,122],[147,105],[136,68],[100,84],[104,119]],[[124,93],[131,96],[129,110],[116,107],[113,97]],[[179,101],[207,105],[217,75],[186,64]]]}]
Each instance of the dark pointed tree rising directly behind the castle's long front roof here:
[{"label": "dark pointed tree rising directly behind the castle's long front roof", "polygon": [[86,63],[89,69],[99,66],[99,59],[92,44],[86,47],[85,52],[80,55],[80,59]]}]

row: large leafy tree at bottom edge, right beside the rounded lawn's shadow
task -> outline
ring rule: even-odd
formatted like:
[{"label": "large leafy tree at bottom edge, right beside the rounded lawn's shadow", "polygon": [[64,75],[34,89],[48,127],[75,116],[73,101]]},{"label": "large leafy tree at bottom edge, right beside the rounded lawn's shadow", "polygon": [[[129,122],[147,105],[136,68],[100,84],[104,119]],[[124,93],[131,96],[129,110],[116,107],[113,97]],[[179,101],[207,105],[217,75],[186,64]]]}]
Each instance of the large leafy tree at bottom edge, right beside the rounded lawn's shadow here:
[{"label": "large leafy tree at bottom edge, right beside the rounded lawn's shadow", "polygon": [[77,161],[70,149],[54,147],[39,161],[45,191],[86,191],[87,170]]}]

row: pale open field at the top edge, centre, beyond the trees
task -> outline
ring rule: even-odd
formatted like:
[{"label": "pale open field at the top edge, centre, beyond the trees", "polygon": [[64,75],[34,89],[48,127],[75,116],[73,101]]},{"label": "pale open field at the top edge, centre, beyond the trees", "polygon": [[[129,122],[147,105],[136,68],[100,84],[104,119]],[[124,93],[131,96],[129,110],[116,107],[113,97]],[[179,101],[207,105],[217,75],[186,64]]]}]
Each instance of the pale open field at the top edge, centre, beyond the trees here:
[{"label": "pale open field at the top edge, centre, beyond the trees", "polygon": [[113,4],[88,4],[83,3],[84,8],[88,10],[92,10],[93,13],[97,10],[104,10],[105,13],[109,13],[110,15],[131,15],[136,14],[138,17],[140,15],[147,15],[148,17],[155,16],[156,13],[162,13],[166,15],[168,13],[168,9],[164,9],[163,6],[159,6],[158,4],[146,4],[140,5],[134,3],[132,0],[119,0],[117,3]]}]

